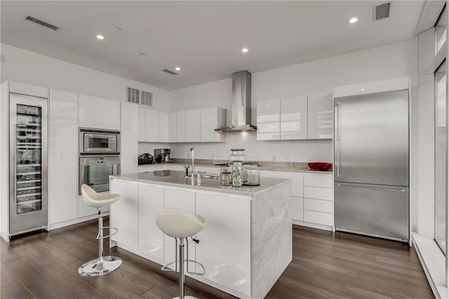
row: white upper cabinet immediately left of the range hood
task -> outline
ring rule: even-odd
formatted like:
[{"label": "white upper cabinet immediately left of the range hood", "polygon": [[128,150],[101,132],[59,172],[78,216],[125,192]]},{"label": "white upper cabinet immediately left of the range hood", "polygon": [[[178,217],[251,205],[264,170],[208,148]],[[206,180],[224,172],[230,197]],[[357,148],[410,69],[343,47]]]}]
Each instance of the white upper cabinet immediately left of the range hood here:
[{"label": "white upper cabinet immediately left of the range hood", "polygon": [[219,107],[201,109],[201,142],[225,142],[226,134],[215,132],[215,128],[226,125],[226,109]]}]

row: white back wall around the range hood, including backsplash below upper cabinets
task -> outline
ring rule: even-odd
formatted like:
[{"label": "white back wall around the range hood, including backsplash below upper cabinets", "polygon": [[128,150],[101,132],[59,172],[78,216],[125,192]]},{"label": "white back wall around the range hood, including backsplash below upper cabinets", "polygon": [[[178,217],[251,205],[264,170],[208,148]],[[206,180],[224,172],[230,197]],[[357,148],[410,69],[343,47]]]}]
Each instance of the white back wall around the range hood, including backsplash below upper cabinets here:
[{"label": "white back wall around the range hood, including backsplash below upper cabinets", "polygon": [[[335,86],[357,84],[416,73],[417,41],[403,41],[331,58],[253,73],[252,123],[256,124],[257,101],[333,91]],[[232,79],[170,91],[170,111],[223,107],[231,118]],[[212,128],[211,128],[212,129]],[[170,144],[172,157],[185,158],[192,144]],[[199,143],[195,157],[227,159],[230,149],[246,149],[248,159],[276,161],[332,161],[331,140],[259,141],[255,133],[228,133],[227,142]]]}]

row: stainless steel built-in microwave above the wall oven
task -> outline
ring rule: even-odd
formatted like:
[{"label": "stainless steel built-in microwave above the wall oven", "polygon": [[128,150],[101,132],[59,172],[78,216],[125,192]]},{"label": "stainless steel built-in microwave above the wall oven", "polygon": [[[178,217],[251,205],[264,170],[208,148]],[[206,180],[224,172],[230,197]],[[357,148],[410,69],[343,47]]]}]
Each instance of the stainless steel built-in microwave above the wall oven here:
[{"label": "stainless steel built-in microwave above the wall oven", "polygon": [[120,132],[79,129],[79,154],[119,154]]}]

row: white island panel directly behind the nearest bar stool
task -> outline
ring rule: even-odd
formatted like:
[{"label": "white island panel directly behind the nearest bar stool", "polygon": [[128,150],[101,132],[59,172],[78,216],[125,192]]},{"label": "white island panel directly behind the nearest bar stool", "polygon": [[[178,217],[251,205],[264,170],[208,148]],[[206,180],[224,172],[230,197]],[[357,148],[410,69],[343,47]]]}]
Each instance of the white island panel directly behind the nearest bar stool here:
[{"label": "white island panel directly behind the nearest bar stool", "polygon": [[[182,208],[195,214],[195,192],[177,189],[165,189],[163,194],[163,208]],[[165,263],[175,260],[175,238],[164,235],[164,261]],[[195,242],[189,242],[189,255],[195,256]],[[195,269],[195,264],[189,267]]]}]

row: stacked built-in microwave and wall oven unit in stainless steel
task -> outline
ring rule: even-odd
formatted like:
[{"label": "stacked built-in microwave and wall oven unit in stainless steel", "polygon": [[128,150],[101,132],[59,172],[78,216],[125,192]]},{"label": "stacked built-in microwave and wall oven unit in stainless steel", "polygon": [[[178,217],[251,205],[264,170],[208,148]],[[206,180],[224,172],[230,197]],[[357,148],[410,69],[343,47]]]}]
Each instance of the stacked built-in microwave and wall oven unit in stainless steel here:
[{"label": "stacked built-in microwave and wall oven unit in stainless steel", "polygon": [[120,132],[80,128],[79,194],[81,185],[109,191],[109,175],[120,174]]}]

